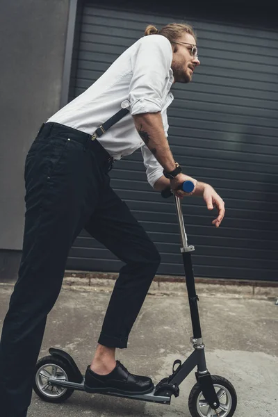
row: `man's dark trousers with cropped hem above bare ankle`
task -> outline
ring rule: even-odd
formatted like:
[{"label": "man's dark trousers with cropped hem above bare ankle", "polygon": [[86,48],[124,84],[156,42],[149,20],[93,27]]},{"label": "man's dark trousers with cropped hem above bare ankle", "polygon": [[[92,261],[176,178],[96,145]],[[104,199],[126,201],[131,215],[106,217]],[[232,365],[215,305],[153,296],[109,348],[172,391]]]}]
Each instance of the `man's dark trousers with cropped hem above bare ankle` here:
[{"label": "man's dark trousers with cropped hem above bare ankle", "polygon": [[26,416],[47,314],[60,293],[70,247],[83,228],[125,263],[99,343],[127,345],[160,256],[112,190],[110,159],[87,133],[56,123],[44,124],[28,152],[22,261],[0,343],[2,417]]}]

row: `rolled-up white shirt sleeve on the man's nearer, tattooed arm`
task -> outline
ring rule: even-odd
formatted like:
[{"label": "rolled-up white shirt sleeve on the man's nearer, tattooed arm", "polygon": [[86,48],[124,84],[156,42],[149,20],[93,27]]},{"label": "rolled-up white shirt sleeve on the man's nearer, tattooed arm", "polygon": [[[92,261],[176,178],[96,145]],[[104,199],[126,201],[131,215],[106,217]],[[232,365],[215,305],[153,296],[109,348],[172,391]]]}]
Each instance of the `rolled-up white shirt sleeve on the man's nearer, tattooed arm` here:
[{"label": "rolled-up white shirt sleeve on the man's nearer, tattooed arm", "polygon": [[172,47],[165,36],[148,35],[142,38],[140,47],[131,58],[131,115],[157,113],[162,110],[163,92],[171,63]]}]

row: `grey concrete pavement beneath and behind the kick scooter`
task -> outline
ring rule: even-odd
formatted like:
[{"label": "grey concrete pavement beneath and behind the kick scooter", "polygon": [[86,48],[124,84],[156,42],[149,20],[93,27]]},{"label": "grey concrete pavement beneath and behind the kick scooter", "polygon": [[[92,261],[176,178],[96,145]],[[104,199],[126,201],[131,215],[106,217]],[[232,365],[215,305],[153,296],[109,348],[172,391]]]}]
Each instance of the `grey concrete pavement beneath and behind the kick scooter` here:
[{"label": "grey concrete pavement beneath and behind the kick scooter", "polygon": [[[40,357],[48,348],[66,350],[85,371],[95,350],[111,281],[103,285],[63,286],[49,314]],[[0,327],[13,286],[0,284]],[[198,288],[206,361],[212,374],[222,375],[235,386],[238,408],[235,417],[278,416],[278,306],[273,300],[244,294],[213,294]],[[150,291],[131,331],[129,346],[117,350],[117,359],[131,373],[148,375],[154,383],[172,373],[175,359],[192,352],[188,301],[183,287],[167,286],[163,293]],[[28,417],[190,417],[188,395],[194,373],[182,382],[179,398],[172,404],[75,392],[62,404],[48,404],[35,393]]]}]

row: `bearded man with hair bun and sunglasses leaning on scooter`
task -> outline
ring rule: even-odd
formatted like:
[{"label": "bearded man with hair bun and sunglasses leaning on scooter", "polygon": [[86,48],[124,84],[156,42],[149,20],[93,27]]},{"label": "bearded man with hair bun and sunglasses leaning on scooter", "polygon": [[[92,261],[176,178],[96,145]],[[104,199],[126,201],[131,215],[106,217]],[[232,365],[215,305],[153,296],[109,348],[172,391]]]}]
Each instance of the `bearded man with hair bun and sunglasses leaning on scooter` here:
[{"label": "bearded man with hair bun and sunglasses leaning on scooter", "polygon": [[[115,348],[127,345],[160,256],[111,189],[108,170],[111,161],[141,148],[148,181],[156,190],[170,186],[182,198],[186,193],[179,186],[190,179],[195,186],[190,195],[204,197],[209,210],[215,206],[213,224],[220,225],[224,202],[211,186],[181,172],[166,137],[170,88],[190,82],[198,65],[190,26],[169,24],[161,31],[148,26],[145,37],[42,125],[26,158],[22,262],[0,345],[1,416],[26,416],[47,314],[60,292],[67,254],[83,228],[125,263],[85,373],[85,387],[89,392],[152,391],[152,379],[132,375],[115,361]],[[129,114],[106,132],[97,129],[121,108]]]}]

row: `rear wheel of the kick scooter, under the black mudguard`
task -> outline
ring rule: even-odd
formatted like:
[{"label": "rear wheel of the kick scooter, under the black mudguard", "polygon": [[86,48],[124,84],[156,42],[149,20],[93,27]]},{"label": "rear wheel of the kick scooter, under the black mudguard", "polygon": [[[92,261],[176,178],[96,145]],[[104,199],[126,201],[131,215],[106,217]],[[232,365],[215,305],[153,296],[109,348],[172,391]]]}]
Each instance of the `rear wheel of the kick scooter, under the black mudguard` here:
[{"label": "rear wheel of the kick scooter, under the black mudguard", "polygon": [[63,402],[70,398],[74,389],[49,384],[49,379],[70,381],[71,377],[72,370],[63,360],[53,356],[43,357],[36,365],[33,390],[44,401]]}]

